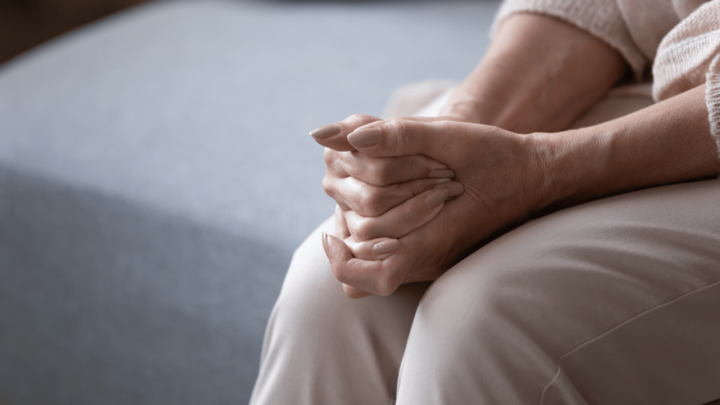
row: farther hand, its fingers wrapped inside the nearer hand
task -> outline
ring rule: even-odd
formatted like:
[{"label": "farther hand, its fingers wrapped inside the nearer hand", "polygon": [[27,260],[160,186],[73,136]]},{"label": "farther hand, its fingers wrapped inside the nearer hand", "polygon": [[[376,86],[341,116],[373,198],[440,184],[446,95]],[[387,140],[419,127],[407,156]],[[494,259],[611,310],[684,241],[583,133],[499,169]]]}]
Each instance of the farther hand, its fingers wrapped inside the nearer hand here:
[{"label": "farther hand, its fingers wrapped inside the nearer hand", "polygon": [[[451,181],[454,173],[427,156],[377,158],[354,151],[347,135],[377,121],[369,115],[352,115],[311,133],[318,143],[328,146],[323,187],[338,203],[335,235],[358,259],[388,257],[399,246],[396,238],[430,221],[447,198],[462,193],[462,184]],[[344,288],[354,298],[367,295],[347,285]]]}]

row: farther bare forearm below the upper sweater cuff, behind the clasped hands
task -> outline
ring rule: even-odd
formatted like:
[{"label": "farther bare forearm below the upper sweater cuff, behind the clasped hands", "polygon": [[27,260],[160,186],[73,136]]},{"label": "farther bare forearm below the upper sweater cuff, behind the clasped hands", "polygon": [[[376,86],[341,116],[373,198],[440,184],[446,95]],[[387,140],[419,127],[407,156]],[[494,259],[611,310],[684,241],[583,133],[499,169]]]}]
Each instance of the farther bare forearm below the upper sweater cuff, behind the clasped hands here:
[{"label": "farther bare forearm below the upper sweater cuff, behind the clasped hands", "polygon": [[567,128],[627,70],[620,53],[551,17],[516,14],[441,115],[516,133]]}]

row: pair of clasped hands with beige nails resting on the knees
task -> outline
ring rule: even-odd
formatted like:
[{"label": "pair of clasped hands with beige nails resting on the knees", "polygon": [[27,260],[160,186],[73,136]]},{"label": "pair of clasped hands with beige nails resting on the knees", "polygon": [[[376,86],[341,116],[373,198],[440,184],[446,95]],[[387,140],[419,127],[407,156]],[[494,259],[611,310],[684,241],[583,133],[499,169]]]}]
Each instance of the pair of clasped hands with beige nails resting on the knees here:
[{"label": "pair of clasped hands with beige nails resting on the knees", "polygon": [[311,135],[325,146],[325,192],[338,203],[323,233],[351,298],[436,280],[493,235],[549,202],[533,135],[443,117],[352,115]]}]

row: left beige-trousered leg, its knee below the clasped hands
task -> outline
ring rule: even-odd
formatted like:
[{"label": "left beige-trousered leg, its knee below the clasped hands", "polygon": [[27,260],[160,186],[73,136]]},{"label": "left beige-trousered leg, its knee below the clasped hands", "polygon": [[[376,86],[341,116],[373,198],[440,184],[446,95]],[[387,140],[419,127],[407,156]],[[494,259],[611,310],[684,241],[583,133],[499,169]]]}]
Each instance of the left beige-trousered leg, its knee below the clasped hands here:
[{"label": "left beige-trousered leg, its knee below the clasped hands", "polygon": [[295,252],[266,330],[251,404],[388,404],[420,297],[427,285],[390,297],[352,300],[343,293],[320,235]]}]

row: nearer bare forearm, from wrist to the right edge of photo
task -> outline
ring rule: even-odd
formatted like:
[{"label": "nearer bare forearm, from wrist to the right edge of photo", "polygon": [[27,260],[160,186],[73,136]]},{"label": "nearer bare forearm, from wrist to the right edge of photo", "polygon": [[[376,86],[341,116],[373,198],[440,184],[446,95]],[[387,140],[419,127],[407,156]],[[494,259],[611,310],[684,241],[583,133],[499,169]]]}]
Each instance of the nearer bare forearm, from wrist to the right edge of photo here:
[{"label": "nearer bare forearm, from wrist to the right edge of photo", "polygon": [[720,173],[704,85],[608,123],[531,138],[563,205]]}]

